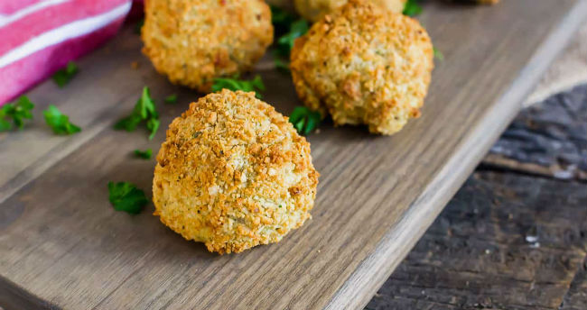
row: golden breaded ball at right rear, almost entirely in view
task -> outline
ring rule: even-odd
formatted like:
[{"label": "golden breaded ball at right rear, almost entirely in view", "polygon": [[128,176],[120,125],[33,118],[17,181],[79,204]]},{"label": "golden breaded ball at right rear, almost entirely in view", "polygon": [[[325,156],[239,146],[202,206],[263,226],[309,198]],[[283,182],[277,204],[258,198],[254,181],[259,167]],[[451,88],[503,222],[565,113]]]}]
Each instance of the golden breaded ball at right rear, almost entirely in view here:
[{"label": "golden breaded ball at right rear, almost entirely in view", "polygon": [[336,125],[392,134],[420,115],[433,45],[415,19],[349,0],[295,41],[292,77],[305,105]]}]

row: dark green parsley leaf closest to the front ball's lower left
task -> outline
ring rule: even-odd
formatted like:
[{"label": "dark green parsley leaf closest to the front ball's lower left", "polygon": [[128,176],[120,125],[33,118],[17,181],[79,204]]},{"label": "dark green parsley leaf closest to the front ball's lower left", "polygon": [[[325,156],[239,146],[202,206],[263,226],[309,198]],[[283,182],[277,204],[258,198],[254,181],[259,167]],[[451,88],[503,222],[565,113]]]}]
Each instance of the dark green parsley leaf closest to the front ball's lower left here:
[{"label": "dark green parsley leaf closest to the front ball's lower left", "polygon": [[149,200],[142,189],[130,182],[108,182],[108,199],[116,211],[138,214]]}]

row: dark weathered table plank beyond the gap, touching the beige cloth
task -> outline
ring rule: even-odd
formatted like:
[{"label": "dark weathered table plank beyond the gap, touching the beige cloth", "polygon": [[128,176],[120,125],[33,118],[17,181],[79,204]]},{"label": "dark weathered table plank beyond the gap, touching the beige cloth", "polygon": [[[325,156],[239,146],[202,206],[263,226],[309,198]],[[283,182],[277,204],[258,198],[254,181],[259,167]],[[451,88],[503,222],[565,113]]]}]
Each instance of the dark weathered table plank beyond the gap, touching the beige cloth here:
[{"label": "dark weathered table plank beyond the gap, touching the beige cloth", "polygon": [[575,87],[522,111],[483,164],[587,180],[587,86]]}]

